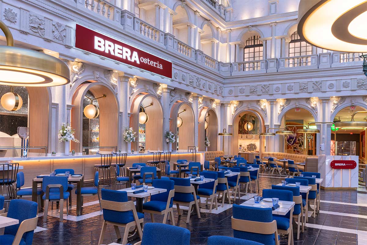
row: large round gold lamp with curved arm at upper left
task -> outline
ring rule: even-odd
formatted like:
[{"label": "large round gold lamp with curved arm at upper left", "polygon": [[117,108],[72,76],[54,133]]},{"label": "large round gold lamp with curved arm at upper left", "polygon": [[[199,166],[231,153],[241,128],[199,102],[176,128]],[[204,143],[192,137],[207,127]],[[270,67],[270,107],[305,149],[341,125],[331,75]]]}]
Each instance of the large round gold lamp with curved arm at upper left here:
[{"label": "large round gold lamp with curved arm at upper left", "polygon": [[0,46],[0,84],[26,87],[50,87],[70,82],[69,67],[48,54],[14,47],[9,28],[0,21],[7,46]]}]

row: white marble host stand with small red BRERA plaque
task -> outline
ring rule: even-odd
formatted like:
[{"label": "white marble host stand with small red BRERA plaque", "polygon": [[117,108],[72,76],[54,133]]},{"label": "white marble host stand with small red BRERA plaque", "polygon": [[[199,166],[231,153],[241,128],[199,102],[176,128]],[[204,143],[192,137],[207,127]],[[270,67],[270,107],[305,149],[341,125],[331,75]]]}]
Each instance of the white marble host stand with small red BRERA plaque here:
[{"label": "white marble host stand with small red BRERA plaque", "polygon": [[358,156],[319,155],[319,172],[325,189],[356,189],[358,187]]}]

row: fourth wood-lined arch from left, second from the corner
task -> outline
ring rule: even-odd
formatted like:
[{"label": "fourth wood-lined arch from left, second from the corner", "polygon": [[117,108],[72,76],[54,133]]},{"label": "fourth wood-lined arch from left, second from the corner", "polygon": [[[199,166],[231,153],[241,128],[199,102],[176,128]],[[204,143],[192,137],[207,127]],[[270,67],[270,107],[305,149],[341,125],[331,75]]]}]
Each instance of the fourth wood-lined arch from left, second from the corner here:
[{"label": "fourth wood-lined arch from left, second from the corner", "polygon": [[195,137],[195,117],[191,105],[188,102],[175,102],[170,118],[170,130],[177,137],[172,149],[187,151],[189,146],[194,146]]}]

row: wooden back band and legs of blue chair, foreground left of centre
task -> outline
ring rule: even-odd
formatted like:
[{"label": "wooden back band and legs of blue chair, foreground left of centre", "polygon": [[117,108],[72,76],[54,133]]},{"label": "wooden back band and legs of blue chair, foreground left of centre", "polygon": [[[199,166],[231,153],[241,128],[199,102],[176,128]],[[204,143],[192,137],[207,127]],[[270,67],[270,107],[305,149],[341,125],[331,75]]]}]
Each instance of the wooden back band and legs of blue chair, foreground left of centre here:
[{"label": "wooden back band and legs of blue chair, foreground left of centre", "polygon": [[103,237],[105,235],[106,227],[107,227],[108,224],[113,225],[113,227],[115,228],[115,232],[116,232],[116,235],[117,235],[118,239],[121,238],[121,233],[120,233],[120,230],[119,230],[119,226],[120,227],[125,227],[124,236],[123,236],[123,240],[122,240],[123,244],[127,244],[129,230],[133,226],[137,227],[139,237],[140,237],[140,239],[142,239],[143,231],[142,231],[142,228],[141,228],[141,224],[144,222],[144,219],[139,219],[138,218],[138,213],[137,213],[137,210],[135,209],[135,205],[134,205],[133,201],[114,202],[114,201],[107,201],[107,200],[102,199],[101,204],[102,204],[102,209],[115,210],[115,211],[119,211],[119,212],[132,211],[132,215],[134,216],[134,221],[131,221],[130,223],[127,223],[127,224],[121,224],[121,223],[116,223],[116,222],[111,222],[111,221],[104,220],[103,224],[102,224],[101,235],[99,235],[98,244],[103,243]]}]

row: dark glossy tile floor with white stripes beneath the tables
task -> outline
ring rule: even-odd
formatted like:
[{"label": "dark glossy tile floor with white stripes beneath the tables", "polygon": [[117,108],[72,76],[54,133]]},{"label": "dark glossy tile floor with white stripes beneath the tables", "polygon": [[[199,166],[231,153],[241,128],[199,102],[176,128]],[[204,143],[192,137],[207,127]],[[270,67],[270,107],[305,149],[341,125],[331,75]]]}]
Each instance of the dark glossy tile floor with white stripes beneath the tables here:
[{"label": "dark glossy tile floor with white stripes beneath the tables", "polygon": [[[280,183],[279,176],[260,174],[260,193],[262,189],[271,188],[272,184]],[[254,189],[254,184],[252,185]],[[241,194],[242,203],[253,195]],[[73,198],[75,202],[76,198]],[[204,199],[202,202],[204,203]],[[64,221],[59,222],[59,210],[48,212],[47,223],[43,224],[43,213],[39,213],[39,223],[34,233],[33,244],[52,245],[88,245],[97,244],[101,231],[103,216],[99,210],[97,197],[84,197],[82,215],[76,216],[76,203],[66,216],[64,210]],[[204,205],[204,204],[202,204]],[[218,205],[220,203],[218,202]],[[175,208],[175,207],[174,207]],[[212,235],[233,236],[231,228],[232,205],[225,204],[224,207],[208,210],[201,209],[201,219],[192,215],[190,223],[186,224],[186,214],[178,217],[174,209],[176,225],[188,228],[191,231],[191,244],[206,244],[207,238]],[[161,222],[163,216],[156,215],[156,222]],[[150,222],[150,215],[145,215],[145,223]],[[168,224],[171,221],[168,221]],[[120,228],[121,231],[122,228]],[[296,229],[294,229],[296,231]],[[296,234],[295,234],[296,237]],[[121,243],[116,237],[112,226],[107,228],[105,244],[112,242]],[[136,241],[132,241],[134,243]],[[359,188],[357,191],[321,190],[320,213],[314,219],[309,218],[305,233],[301,233],[300,239],[294,242],[297,245],[367,245],[367,191]],[[287,244],[287,237],[281,237],[281,244]]]}]

